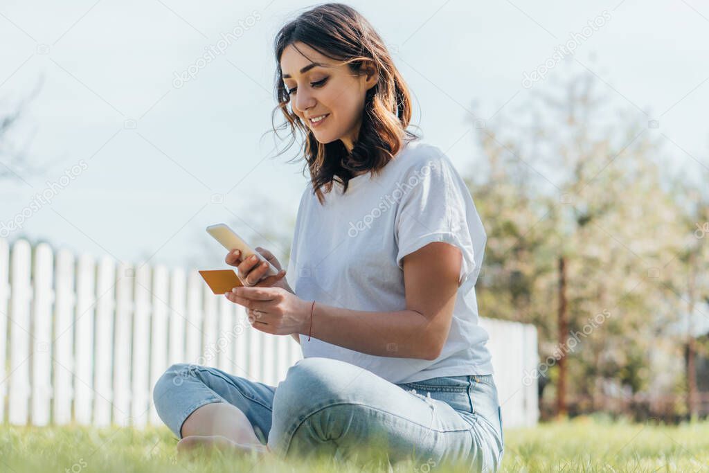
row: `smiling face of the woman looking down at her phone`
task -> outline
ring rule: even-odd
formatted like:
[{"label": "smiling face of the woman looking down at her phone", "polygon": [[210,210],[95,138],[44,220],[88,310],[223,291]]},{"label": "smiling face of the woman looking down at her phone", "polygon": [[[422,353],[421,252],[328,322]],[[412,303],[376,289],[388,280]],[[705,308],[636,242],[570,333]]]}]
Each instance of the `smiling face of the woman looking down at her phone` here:
[{"label": "smiling face of the woman looking down at her phone", "polygon": [[[342,140],[347,150],[352,150],[362,124],[364,96],[376,84],[376,73],[354,75],[349,66],[337,65],[337,61],[299,41],[283,50],[281,72],[291,110],[316,140]],[[319,122],[311,120],[322,116],[325,118]]]}]

